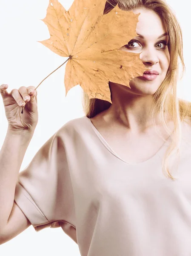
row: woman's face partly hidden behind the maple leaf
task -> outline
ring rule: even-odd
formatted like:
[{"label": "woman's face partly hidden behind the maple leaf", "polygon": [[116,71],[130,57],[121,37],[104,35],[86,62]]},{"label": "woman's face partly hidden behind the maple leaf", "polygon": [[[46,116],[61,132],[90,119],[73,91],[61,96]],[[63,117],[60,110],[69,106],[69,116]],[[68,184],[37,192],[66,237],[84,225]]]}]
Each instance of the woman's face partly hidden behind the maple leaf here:
[{"label": "woman's face partly hidden behind the maple leaf", "polygon": [[[131,89],[126,86],[123,86],[123,89],[138,95],[152,95],[165,79],[169,67],[170,55],[166,45],[168,44],[168,35],[163,35],[167,29],[157,13],[152,10],[137,8],[133,12],[140,13],[136,28],[136,32],[140,36],[132,38],[127,45],[120,49],[140,53],[140,59],[145,67],[155,70],[159,74],[156,79],[150,81],[141,76],[135,77],[129,83]],[[161,35],[163,36],[161,37]]]}]

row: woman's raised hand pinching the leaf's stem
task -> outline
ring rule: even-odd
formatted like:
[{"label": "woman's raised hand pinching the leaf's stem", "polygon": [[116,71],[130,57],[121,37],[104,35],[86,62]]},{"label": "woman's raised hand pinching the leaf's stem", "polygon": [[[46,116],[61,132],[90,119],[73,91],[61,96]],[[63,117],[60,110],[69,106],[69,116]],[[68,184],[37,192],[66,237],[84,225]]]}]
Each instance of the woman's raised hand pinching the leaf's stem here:
[{"label": "woman's raised hand pinching the leaf's stem", "polygon": [[[19,90],[11,90],[10,93],[7,92],[7,88],[7,84],[2,84],[0,86],[0,94],[3,98],[9,130],[15,132],[34,132],[38,122],[37,91],[35,90],[35,87],[22,86]],[[21,103],[23,105],[21,105]],[[23,109],[23,114],[21,114],[23,106],[25,107]]]}]

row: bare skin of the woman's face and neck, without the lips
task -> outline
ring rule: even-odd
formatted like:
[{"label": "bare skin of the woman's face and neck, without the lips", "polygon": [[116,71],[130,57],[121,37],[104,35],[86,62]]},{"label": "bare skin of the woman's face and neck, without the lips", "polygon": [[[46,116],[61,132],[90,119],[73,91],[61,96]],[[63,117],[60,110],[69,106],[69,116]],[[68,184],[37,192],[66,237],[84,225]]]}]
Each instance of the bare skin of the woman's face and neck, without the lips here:
[{"label": "bare skin of the woman's face and neck, without the lips", "polygon": [[[165,79],[170,63],[168,46],[158,42],[166,41],[168,43],[169,37],[166,35],[157,39],[167,32],[167,28],[157,13],[144,8],[137,8],[132,11],[136,14],[140,13],[136,32],[143,35],[144,39],[140,36],[132,38],[137,39],[139,43],[129,41],[126,47],[123,46],[120,49],[140,53],[140,59],[145,67],[157,70],[159,75],[153,81],[136,77],[130,81],[131,89],[122,84],[110,82],[112,105],[108,110],[103,111],[102,116],[105,122],[109,123],[112,120],[112,122],[116,122],[116,125],[124,127],[128,133],[141,134],[143,131],[145,133],[149,127],[146,124],[147,112],[151,106],[153,94]],[[162,49],[164,47],[166,49]]]}]

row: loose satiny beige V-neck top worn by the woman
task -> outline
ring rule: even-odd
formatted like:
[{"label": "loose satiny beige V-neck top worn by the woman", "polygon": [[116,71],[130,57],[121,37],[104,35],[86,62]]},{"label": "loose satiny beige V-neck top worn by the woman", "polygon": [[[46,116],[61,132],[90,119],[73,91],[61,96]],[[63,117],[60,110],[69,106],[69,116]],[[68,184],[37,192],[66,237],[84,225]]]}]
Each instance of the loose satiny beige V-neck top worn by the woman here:
[{"label": "loose satiny beige V-neck top worn by the woman", "polygon": [[[63,125],[19,173],[14,200],[36,231],[61,227],[82,256],[191,256],[191,127],[171,180],[162,158],[127,163],[86,116]],[[145,146],[146,150],[146,146]]]}]

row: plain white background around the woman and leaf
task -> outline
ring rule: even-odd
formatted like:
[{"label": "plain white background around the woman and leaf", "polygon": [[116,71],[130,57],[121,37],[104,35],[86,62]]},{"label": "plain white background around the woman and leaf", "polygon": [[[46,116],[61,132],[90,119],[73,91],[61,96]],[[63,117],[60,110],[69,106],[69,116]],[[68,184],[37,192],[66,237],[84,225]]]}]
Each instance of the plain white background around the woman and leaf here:
[{"label": "plain white background around the woman and leaf", "polygon": [[[66,10],[71,0],[60,0]],[[8,84],[8,92],[20,86],[35,86],[67,58],[51,52],[42,41],[50,38],[47,26],[41,21],[46,16],[49,0],[0,0],[0,84]],[[178,97],[191,101],[191,35],[188,0],[167,0],[180,22],[186,73],[178,82]],[[66,64],[65,64],[66,65]],[[66,122],[84,116],[79,85],[65,96],[65,65],[38,87],[39,121],[26,151],[24,169],[39,148]],[[7,120],[0,96],[0,147],[7,131]],[[67,255],[80,256],[77,244],[60,228],[46,228],[36,232],[30,226],[11,241],[0,246],[2,256]]]}]

